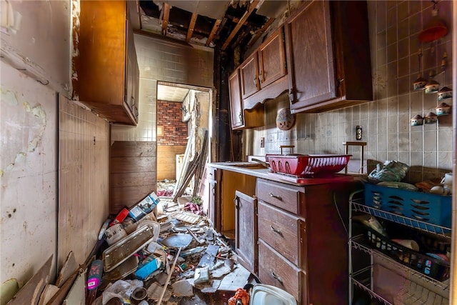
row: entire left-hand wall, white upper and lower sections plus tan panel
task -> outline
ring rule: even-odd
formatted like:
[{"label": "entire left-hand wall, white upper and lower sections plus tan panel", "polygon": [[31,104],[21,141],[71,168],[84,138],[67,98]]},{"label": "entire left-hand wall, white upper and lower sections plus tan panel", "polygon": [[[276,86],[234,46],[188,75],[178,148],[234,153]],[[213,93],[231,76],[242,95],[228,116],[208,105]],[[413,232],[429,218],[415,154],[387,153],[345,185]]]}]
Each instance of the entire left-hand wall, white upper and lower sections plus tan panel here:
[{"label": "entire left-hand wall, white upper and lower sections plus tan panel", "polygon": [[22,286],[51,255],[50,281],[69,251],[83,264],[108,216],[109,124],[66,99],[59,114],[74,11],[77,0],[0,1],[0,283]]}]

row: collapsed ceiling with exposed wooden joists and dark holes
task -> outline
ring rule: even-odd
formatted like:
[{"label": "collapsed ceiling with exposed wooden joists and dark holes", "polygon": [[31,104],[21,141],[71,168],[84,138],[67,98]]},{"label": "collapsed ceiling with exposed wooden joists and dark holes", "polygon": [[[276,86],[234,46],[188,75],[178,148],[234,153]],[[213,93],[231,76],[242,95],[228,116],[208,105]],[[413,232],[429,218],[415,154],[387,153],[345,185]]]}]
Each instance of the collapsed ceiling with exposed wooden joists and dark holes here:
[{"label": "collapsed ceiling with exposed wooden joists and dark holes", "polygon": [[[296,1],[296,0],[295,0]],[[286,11],[286,0],[140,0],[134,30],[191,44],[248,49]],[[136,20],[135,20],[136,19]]]}]

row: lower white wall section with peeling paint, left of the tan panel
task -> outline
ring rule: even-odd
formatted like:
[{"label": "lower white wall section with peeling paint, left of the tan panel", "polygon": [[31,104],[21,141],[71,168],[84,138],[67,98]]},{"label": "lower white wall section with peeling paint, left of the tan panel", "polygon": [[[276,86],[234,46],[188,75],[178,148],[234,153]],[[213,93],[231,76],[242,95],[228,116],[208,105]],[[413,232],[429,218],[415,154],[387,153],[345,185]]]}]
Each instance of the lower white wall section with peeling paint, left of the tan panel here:
[{"label": "lower white wall section with peeling paint, left of the tan panel", "polygon": [[1,63],[0,282],[19,284],[54,254],[56,266],[56,92]]}]

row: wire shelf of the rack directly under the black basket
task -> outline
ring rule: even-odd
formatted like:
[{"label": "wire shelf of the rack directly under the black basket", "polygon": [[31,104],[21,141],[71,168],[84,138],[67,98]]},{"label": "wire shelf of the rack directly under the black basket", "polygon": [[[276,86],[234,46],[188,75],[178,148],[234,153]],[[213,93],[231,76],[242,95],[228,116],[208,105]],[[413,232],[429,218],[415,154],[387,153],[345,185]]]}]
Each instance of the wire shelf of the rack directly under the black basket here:
[{"label": "wire shelf of the rack directly under the black basket", "polygon": [[[393,266],[396,266],[397,269],[401,269],[403,271],[408,272],[408,274],[411,274],[411,276],[413,276],[413,278],[420,279],[422,281],[431,283],[431,284],[433,284],[433,286],[437,286],[440,289],[442,289],[443,291],[447,291],[446,293],[448,293],[449,285],[446,284],[446,282],[436,281],[436,279],[432,279],[431,277],[428,277],[425,274],[421,274],[420,272],[418,272],[416,270],[408,268],[408,266],[404,266],[404,265],[398,263],[398,261],[391,259],[390,257],[384,255],[383,253],[381,253],[375,249],[371,249],[369,246],[364,245],[361,242],[362,239],[363,239],[362,235],[354,236],[354,238],[351,239],[351,246],[354,249],[364,251],[367,254],[370,254],[370,255],[374,254],[378,257],[381,257],[382,259],[385,259],[386,261],[388,261],[389,264],[393,264]],[[356,273],[354,272],[354,274],[356,274]]]}]

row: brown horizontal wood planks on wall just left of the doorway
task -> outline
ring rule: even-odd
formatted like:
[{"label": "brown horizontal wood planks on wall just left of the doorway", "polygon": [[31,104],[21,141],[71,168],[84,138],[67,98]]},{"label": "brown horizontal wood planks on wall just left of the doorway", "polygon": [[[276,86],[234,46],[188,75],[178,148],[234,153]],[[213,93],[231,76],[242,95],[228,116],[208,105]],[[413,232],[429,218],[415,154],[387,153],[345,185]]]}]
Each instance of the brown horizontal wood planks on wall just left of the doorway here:
[{"label": "brown horizontal wood planks on wall just left of the doorway", "polygon": [[111,144],[109,213],[134,206],[156,191],[157,143],[114,141]]}]

